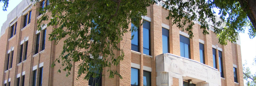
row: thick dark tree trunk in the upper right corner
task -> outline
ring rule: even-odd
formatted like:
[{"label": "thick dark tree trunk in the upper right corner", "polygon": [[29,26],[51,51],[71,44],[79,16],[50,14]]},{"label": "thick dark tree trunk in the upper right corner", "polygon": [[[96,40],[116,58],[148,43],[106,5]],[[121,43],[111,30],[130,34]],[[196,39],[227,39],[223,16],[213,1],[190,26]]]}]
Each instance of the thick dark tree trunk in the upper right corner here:
[{"label": "thick dark tree trunk in the upper right corner", "polygon": [[238,0],[256,30],[256,0]]}]

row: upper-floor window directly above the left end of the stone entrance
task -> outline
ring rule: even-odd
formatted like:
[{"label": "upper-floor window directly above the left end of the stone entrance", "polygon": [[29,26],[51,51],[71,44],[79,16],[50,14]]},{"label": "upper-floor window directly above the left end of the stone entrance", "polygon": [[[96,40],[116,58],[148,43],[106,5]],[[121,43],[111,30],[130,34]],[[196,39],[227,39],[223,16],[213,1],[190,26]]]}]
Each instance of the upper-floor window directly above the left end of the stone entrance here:
[{"label": "upper-floor window directly above the left end of the stone entrance", "polygon": [[162,43],[163,43],[163,53],[170,53],[169,49],[169,30],[162,28]]}]

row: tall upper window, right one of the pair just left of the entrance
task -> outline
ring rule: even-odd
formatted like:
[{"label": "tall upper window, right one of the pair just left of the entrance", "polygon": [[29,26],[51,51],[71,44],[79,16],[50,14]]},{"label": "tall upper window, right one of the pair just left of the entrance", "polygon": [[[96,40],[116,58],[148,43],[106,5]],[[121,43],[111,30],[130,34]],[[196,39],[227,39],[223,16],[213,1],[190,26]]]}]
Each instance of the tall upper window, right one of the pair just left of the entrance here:
[{"label": "tall upper window, right one of the pair just left of the entrance", "polygon": [[143,20],[143,54],[151,55],[150,51],[150,22]]}]

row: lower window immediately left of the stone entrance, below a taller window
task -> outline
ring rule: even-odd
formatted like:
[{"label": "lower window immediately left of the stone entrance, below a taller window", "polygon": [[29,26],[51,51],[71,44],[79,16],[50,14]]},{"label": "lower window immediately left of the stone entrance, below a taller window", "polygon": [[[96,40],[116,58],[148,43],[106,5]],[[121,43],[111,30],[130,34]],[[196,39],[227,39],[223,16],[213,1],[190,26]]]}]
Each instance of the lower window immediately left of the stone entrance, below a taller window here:
[{"label": "lower window immediately left of the stone entrance, below a taller window", "polygon": [[143,71],[143,86],[151,86],[151,73]]}]

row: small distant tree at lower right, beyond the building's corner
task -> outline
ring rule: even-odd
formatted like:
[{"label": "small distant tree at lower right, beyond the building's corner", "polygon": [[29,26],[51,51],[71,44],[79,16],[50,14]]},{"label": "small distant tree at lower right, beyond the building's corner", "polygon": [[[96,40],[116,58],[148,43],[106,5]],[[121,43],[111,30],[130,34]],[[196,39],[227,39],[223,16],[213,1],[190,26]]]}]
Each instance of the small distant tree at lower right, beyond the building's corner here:
[{"label": "small distant tree at lower right, beyond the building's corner", "polygon": [[[256,86],[256,73],[252,74],[249,67],[244,67],[247,62],[243,64],[243,79],[245,79],[247,86]],[[256,66],[256,57],[254,58],[254,63],[252,65]]]}]

